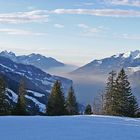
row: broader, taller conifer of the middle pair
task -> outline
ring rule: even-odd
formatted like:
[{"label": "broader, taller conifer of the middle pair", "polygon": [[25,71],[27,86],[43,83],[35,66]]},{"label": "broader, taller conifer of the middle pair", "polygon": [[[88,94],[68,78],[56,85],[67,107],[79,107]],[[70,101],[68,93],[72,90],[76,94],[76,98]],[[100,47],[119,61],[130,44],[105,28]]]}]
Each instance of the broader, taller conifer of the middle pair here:
[{"label": "broader, taller conifer of the middle pair", "polygon": [[65,98],[61,89],[61,82],[56,81],[46,106],[46,114],[49,116],[60,116],[66,114]]}]

